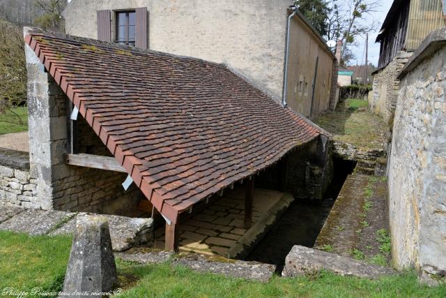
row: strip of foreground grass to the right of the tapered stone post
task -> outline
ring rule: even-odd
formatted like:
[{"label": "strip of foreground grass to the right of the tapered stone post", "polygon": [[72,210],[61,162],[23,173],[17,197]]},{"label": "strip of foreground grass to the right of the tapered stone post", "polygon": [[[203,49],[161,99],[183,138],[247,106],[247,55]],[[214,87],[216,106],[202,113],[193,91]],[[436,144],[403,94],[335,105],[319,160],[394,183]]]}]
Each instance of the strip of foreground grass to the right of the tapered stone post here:
[{"label": "strip of foreground grass to the right of the tapered stone post", "polygon": [[413,272],[378,281],[321,272],[298,278],[274,276],[268,283],[199,274],[168,264],[122,263],[121,274],[132,287],[116,297],[445,297],[446,287],[420,285]]}]

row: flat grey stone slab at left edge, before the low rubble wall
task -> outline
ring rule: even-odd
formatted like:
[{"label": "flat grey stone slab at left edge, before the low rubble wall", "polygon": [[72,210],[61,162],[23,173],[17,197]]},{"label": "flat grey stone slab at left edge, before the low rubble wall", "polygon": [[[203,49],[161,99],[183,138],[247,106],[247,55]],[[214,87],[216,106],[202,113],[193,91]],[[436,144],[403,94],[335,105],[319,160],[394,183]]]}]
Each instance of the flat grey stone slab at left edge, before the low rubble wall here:
[{"label": "flat grey stone slab at left edge, before the low rubble wall", "polygon": [[31,235],[47,234],[74,215],[63,211],[25,209],[20,214],[1,223],[0,230],[24,232]]}]

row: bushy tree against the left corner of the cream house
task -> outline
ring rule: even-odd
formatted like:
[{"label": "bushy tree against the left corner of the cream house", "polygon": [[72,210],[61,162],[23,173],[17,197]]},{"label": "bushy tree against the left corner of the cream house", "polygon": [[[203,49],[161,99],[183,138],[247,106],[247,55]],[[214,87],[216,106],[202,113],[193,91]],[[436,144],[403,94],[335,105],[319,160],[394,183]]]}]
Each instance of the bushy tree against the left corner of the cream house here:
[{"label": "bushy tree against the left corner of the cream house", "polygon": [[34,22],[45,30],[63,31],[62,11],[66,0],[35,0],[36,7],[43,12]]}]

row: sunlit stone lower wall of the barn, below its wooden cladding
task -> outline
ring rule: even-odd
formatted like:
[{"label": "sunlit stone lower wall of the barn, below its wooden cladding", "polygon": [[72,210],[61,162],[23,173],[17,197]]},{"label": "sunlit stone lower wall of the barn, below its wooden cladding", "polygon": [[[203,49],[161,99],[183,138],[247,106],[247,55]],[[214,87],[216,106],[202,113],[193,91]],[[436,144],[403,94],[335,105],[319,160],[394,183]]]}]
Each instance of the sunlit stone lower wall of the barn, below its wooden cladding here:
[{"label": "sunlit stone lower wall of the barn, below its wooden cladding", "polygon": [[412,52],[398,52],[392,62],[374,75],[373,96],[369,97],[371,112],[392,122],[399,91],[398,75]]}]

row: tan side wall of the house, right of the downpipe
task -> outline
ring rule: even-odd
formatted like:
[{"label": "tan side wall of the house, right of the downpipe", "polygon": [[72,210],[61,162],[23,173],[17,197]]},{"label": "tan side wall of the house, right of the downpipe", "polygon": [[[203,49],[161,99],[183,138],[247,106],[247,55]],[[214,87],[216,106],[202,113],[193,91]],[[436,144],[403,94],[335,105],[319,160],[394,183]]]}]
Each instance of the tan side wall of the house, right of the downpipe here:
[{"label": "tan side wall of the house, right of the downpipe", "polygon": [[[313,96],[313,82],[316,70]],[[286,103],[291,109],[314,117],[330,108],[334,57],[325,43],[300,17],[290,25],[289,77]],[[334,96],[333,96],[334,97]]]}]

